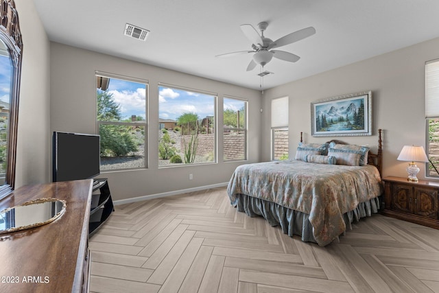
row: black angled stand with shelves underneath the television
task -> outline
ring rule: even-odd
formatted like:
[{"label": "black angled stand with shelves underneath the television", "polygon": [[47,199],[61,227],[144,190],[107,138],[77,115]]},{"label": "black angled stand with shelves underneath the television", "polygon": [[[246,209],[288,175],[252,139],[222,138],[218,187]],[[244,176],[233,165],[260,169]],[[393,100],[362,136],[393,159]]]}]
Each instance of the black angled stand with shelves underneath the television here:
[{"label": "black angled stand with shelves underneath the television", "polygon": [[102,226],[102,224],[108,220],[110,214],[115,211],[107,178],[94,179],[92,188],[90,223],[88,226],[90,236],[93,235],[97,228]]}]

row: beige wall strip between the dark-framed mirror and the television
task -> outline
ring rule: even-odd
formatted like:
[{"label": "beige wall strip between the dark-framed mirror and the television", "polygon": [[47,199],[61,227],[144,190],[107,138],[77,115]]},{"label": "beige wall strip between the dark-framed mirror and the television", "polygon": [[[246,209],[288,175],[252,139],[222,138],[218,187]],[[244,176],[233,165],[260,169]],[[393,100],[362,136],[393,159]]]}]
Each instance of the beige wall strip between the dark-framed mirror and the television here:
[{"label": "beige wall strip between the dark-framed mirror and the television", "polygon": [[23,34],[16,158],[16,187],[20,187],[51,180],[50,48],[34,1],[16,0],[15,3]]}]

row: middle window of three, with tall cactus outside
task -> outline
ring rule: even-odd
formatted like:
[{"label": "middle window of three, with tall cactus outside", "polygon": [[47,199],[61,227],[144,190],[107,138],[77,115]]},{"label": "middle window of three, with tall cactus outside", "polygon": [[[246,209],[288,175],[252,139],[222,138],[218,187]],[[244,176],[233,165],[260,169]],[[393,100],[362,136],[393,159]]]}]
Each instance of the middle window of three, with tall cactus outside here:
[{"label": "middle window of three, with tall cactus outside", "polygon": [[158,167],[216,161],[216,95],[158,86]]}]

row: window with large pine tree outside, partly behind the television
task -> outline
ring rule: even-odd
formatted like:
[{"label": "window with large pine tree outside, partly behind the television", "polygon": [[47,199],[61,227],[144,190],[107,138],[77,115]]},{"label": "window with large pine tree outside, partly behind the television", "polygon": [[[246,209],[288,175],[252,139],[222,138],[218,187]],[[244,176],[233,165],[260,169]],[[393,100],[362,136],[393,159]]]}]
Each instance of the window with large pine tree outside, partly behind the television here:
[{"label": "window with large pine tree outside, partly behind the television", "polygon": [[147,167],[147,82],[97,73],[101,171]]}]

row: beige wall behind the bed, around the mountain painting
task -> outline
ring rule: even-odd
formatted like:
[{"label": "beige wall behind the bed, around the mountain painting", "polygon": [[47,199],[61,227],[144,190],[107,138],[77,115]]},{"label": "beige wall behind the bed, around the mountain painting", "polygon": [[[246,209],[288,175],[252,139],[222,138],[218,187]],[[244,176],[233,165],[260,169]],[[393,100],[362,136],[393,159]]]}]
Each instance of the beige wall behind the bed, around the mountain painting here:
[{"label": "beige wall behind the bed, around the mountain painting", "polygon": [[[328,58],[331,58],[330,56]],[[439,58],[439,38],[375,58],[333,69],[296,82],[266,90],[263,121],[270,121],[270,101],[289,96],[289,154],[294,156],[304,132],[307,142],[324,142],[328,137],[311,137],[311,102],[360,91],[372,91],[373,135],[338,137],[351,143],[377,147],[377,129],[383,129],[383,175],[407,176],[407,163],[397,161],[403,145],[425,146],[425,62]],[[270,125],[263,124],[263,137]],[[270,159],[270,145],[261,145],[261,158]],[[424,178],[425,166],[419,178]]]}]

